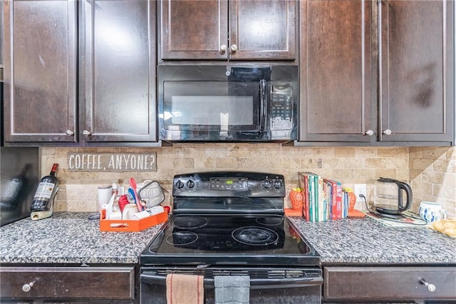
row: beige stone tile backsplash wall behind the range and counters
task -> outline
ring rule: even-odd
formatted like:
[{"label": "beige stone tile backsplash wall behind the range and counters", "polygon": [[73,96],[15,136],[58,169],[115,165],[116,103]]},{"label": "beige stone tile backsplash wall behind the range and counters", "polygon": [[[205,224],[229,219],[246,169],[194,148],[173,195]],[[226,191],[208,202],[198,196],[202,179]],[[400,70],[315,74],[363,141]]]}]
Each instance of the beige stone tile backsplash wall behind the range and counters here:
[{"label": "beige stone tile backsplash wall behind the range and counters", "polygon": [[[71,172],[68,153],[157,153],[156,172]],[[41,174],[59,163],[60,181],[56,211],[97,211],[97,187],[113,182],[128,188],[130,177],[140,183],[158,181],[170,204],[172,178],[195,171],[261,171],[285,176],[286,189],[298,186],[298,172],[312,171],[341,181],[343,186],[397,178],[411,184],[413,211],[420,201],[438,201],[450,215],[456,214],[455,148],[289,147],[280,143],[177,143],[161,148],[41,148]],[[286,200],[286,207],[289,206]]]}]

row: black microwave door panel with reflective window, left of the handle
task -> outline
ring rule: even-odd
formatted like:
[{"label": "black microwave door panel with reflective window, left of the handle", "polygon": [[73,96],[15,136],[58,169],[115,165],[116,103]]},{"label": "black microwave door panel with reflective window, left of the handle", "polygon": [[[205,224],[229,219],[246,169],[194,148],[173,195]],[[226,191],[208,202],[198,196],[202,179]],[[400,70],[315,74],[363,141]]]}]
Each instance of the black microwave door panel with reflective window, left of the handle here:
[{"label": "black microwave door panel with reflective window, left of the handle", "polygon": [[164,81],[161,138],[236,140],[259,131],[258,81]]}]

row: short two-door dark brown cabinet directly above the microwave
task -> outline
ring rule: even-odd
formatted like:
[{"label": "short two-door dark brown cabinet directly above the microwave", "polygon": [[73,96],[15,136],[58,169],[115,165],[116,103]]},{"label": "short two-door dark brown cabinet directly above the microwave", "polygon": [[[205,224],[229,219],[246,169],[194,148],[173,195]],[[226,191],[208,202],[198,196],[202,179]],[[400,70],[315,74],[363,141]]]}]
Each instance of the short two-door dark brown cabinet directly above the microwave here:
[{"label": "short two-door dark brown cabinet directly above the microwave", "polygon": [[295,0],[161,0],[162,60],[294,60]]}]

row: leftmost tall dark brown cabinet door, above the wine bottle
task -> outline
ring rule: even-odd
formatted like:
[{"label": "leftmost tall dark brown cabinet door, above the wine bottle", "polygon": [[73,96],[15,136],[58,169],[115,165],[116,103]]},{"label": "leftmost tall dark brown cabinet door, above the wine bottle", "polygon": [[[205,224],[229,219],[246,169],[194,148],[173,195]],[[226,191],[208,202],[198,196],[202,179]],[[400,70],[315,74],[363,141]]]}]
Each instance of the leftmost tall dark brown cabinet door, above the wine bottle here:
[{"label": "leftmost tall dark brown cabinet door, above the wine bottle", "polygon": [[76,2],[2,5],[4,140],[76,141]]}]

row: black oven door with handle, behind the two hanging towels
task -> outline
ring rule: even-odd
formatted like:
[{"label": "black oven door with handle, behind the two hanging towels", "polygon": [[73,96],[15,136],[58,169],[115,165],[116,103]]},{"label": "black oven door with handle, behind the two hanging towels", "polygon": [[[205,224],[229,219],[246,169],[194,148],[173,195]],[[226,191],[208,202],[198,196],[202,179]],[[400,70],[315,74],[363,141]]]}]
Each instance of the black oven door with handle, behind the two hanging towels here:
[{"label": "black oven door with handle, behind the two hanging towels", "polygon": [[204,303],[214,303],[214,275],[249,275],[250,303],[321,303],[319,268],[155,268],[140,273],[140,303],[166,303],[166,275],[204,275]]}]

